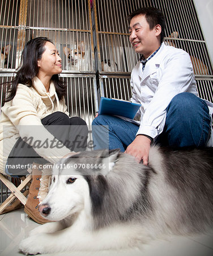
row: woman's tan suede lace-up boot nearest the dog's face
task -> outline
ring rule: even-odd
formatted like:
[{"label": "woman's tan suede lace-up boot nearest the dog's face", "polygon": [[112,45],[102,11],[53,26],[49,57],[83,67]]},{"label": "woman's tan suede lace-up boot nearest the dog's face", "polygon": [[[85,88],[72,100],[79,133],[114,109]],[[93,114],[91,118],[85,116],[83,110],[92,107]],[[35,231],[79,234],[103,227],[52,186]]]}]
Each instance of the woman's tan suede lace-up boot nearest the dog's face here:
[{"label": "woman's tan suede lace-up boot nearest the dog's face", "polygon": [[[44,224],[50,221],[43,218],[39,212],[40,201],[38,198],[38,193],[40,189],[41,175],[42,175],[42,171],[39,169],[39,164],[33,163],[32,183],[29,187],[29,195],[27,198],[27,203],[24,205],[24,212],[27,213],[28,216],[31,217],[37,223]],[[48,193],[48,186],[46,186],[46,194],[47,193]]]}]

